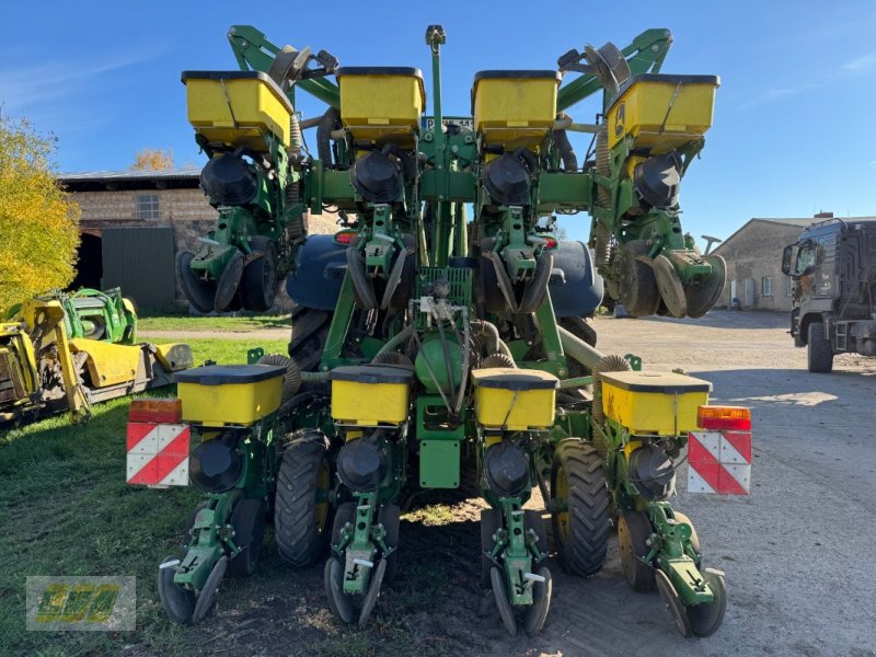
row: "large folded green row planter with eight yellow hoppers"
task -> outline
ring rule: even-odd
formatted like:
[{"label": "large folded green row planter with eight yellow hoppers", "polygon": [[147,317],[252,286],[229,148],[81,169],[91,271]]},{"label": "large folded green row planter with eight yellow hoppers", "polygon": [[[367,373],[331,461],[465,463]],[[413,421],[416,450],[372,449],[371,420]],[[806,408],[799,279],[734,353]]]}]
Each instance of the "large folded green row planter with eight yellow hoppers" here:
[{"label": "large folded green row planter with eight yellow hoppers", "polygon": [[[204,311],[263,308],[284,279],[296,310],[288,356],[183,372],[177,399],[131,406],[129,481],[186,479],[140,476],[138,446],[164,431],[193,441],[173,463],[206,495],[159,566],[169,618],[201,621],[227,574],[254,572],[269,518],[281,558],[324,564],[328,608],[362,626],[394,580],[404,502],[474,472],[480,579],[509,634],[545,622],[549,553],[589,577],[612,528],[630,585],[656,587],[684,636],[714,633],[724,574],[670,498],[689,433],[750,431],[750,413],[600,353],[586,318],[603,292],[638,315],[717,300],[724,261],[696,250],[679,206],[717,77],[661,73],[671,35],[649,30],[551,70],[480,71],[453,119],[440,25],[425,34],[430,105],[412,67],[342,67],[245,25],[228,38],[240,70],[182,73],[219,217],[177,275]],[[325,112],[299,118],[299,93]],[[598,123],[576,123],[597,93]],[[581,160],[574,130],[593,136]],[[325,208],[341,230],[308,234]],[[585,211],[589,241],[558,239],[556,216]],[[535,492],[543,510],[525,508]]]}]

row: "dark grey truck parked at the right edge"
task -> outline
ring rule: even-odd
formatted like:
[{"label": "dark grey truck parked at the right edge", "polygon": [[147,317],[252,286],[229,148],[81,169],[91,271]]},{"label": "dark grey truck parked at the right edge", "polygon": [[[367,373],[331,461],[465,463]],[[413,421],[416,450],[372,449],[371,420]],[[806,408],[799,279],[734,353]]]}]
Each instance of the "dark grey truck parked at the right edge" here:
[{"label": "dark grey truck parked at the right edge", "polygon": [[830,219],[785,246],[793,279],[791,335],[810,372],[830,372],[835,354],[876,356],[876,218]]}]

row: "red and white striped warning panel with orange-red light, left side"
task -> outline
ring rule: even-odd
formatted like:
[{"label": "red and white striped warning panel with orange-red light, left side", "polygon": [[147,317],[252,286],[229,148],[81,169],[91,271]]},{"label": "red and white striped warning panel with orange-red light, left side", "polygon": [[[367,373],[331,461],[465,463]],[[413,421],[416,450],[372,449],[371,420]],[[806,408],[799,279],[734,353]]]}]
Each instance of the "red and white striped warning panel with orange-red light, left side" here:
[{"label": "red and white striped warning panel with orange-red light, left side", "polygon": [[180,417],[177,400],[131,402],[127,433],[129,484],[161,488],[188,485],[192,431]]}]

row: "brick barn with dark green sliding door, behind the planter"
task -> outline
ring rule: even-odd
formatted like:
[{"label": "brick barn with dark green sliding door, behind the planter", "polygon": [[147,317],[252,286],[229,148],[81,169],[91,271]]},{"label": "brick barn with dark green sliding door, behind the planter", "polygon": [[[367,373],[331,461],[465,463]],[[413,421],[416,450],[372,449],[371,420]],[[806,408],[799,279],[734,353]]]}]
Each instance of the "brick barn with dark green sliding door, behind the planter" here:
[{"label": "brick barn with dark green sliding door, behind the planter", "polygon": [[[143,310],[185,308],[176,285],[178,251],[197,252],[217,218],[199,186],[200,169],[95,171],[59,176],[82,209],[73,288],[119,286]],[[310,219],[311,232],[334,232],[334,217]],[[288,308],[285,290],[277,307]]]}]

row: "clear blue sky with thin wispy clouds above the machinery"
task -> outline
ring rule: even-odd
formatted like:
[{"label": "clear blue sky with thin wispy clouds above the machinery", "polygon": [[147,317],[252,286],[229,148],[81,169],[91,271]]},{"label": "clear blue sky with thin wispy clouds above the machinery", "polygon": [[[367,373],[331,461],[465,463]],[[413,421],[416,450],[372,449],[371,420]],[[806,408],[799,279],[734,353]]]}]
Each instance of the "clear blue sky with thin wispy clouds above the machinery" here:
[{"label": "clear blue sky with thin wispy clouds above the machinery", "polygon": [[[475,71],[554,68],[586,43],[620,47],[648,27],[675,43],[664,72],[721,76],[715,125],[681,192],[694,235],[751,217],[876,215],[876,2],[78,2],[0,1],[0,105],[59,138],[62,172],[126,169],[145,147],[203,163],[185,119],[184,69],[234,69],[226,39],[252,24],[279,45],[346,65],[429,71],[445,25],[446,113],[466,114]],[[440,8],[440,9],[437,9]],[[430,81],[426,77],[427,90]],[[302,95],[302,94],[299,94]],[[315,102],[301,102],[312,116]],[[590,122],[593,103],[570,112]],[[584,146],[581,146],[581,149]],[[585,215],[564,221],[585,238]]]}]

